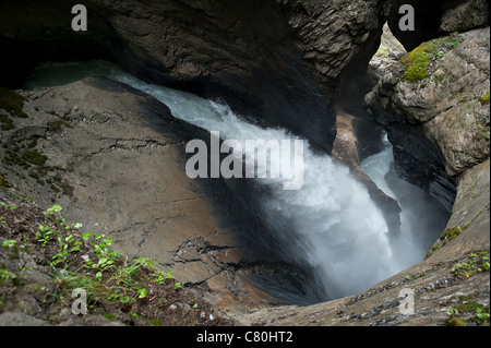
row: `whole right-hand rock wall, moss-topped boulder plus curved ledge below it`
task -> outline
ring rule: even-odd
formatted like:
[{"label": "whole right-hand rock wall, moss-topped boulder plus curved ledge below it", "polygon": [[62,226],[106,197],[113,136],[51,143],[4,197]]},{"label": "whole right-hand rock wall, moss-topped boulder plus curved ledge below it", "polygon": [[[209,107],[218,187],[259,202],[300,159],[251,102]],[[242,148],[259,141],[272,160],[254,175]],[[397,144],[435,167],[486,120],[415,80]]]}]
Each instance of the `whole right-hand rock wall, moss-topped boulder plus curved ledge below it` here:
[{"label": "whole right-hand rock wall, moss-topped boulder plus curved ledge below it", "polygon": [[[433,41],[434,46],[421,45],[434,48],[409,53],[428,59],[423,65],[428,75],[421,79],[405,73],[415,56],[387,61],[385,74],[366,98],[373,120],[392,134],[399,172],[415,183],[426,182],[453,212],[426,260],[354,297],[304,308],[263,309],[238,317],[241,323],[484,323],[477,309],[486,311],[490,302],[489,37],[487,27]],[[415,43],[412,48],[421,44]],[[406,304],[408,296],[414,300],[411,313],[405,313],[411,307]]]}]

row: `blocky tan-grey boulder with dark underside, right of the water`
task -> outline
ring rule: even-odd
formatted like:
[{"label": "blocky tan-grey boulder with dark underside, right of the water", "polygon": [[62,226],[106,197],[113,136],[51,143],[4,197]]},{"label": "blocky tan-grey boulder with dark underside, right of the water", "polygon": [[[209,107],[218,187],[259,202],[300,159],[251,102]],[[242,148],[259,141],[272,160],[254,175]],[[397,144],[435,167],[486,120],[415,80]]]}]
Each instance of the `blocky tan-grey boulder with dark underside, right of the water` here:
[{"label": "blocky tan-grey boulder with dark underside, right of the water", "polygon": [[419,184],[432,187],[447,207],[452,177],[489,158],[489,28],[454,40],[454,49],[433,52],[423,80],[409,81],[404,65],[394,65],[366,97],[376,122],[402,140],[395,146],[399,172],[427,177]]}]

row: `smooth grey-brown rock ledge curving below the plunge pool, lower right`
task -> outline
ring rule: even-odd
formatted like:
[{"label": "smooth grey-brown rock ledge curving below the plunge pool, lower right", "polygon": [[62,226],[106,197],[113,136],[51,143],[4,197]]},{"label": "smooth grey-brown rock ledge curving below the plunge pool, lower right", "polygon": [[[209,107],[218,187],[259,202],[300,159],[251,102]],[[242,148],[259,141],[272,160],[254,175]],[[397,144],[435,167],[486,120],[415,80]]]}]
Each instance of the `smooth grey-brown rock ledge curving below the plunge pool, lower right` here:
[{"label": "smooth grey-brown rock ledge curving below the plunge pool, lower right", "polygon": [[[352,297],[304,308],[263,309],[236,319],[243,325],[278,326],[483,324],[476,308],[483,311],[489,308],[490,274],[489,269],[479,267],[486,262],[483,257],[489,256],[490,245],[489,160],[468,170],[458,191],[448,228],[467,227],[423,262]],[[468,205],[469,195],[474,196],[475,208]],[[463,264],[476,264],[476,267],[468,273],[458,272],[458,265]],[[406,292],[414,293],[415,312],[411,314],[405,312]],[[452,312],[451,309],[457,311]]]}]

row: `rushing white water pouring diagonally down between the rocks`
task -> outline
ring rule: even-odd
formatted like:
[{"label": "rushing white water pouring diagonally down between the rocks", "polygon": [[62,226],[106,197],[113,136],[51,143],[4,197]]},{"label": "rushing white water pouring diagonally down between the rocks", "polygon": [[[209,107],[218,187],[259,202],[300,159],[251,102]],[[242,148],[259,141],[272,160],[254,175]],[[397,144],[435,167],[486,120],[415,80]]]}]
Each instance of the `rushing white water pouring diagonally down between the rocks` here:
[{"label": "rushing white water pouring diagonally down between the rocks", "polygon": [[[244,143],[246,140],[296,139],[283,129],[262,129],[248,123],[224,103],[145,83],[104,61],[41,65],[26,88],[59,85],[88,75],[104,75],[148,93],[166,104],[175,117],[208,131],[219,131],[224,140]],[[383,154],[367,159],[363,167],[387,194],[396,196],[384,180],[393,160],[390,151],[387,147]],[[303,166],[303,187],[298,191],[284,190],[282,179],[249,180],[255,180],[254,185],[259,188],[267,188],[268,194],[259,199],[258,204],[264,224],[276,235],[274,240],[284,244],[278,249],[285,250],[285,259],[309,262],[330,298],[362,291],[421,260],[422,252],[412,250],[416,247],[407,253],[402,252],[404,247],[393,249],[385,219],[347,167],[335,164],[327,155],[314,154],[308,146]],[[411,235],[409,215],[403,215],[406,236],[403,244],[410,240],[407,237]]]}]

